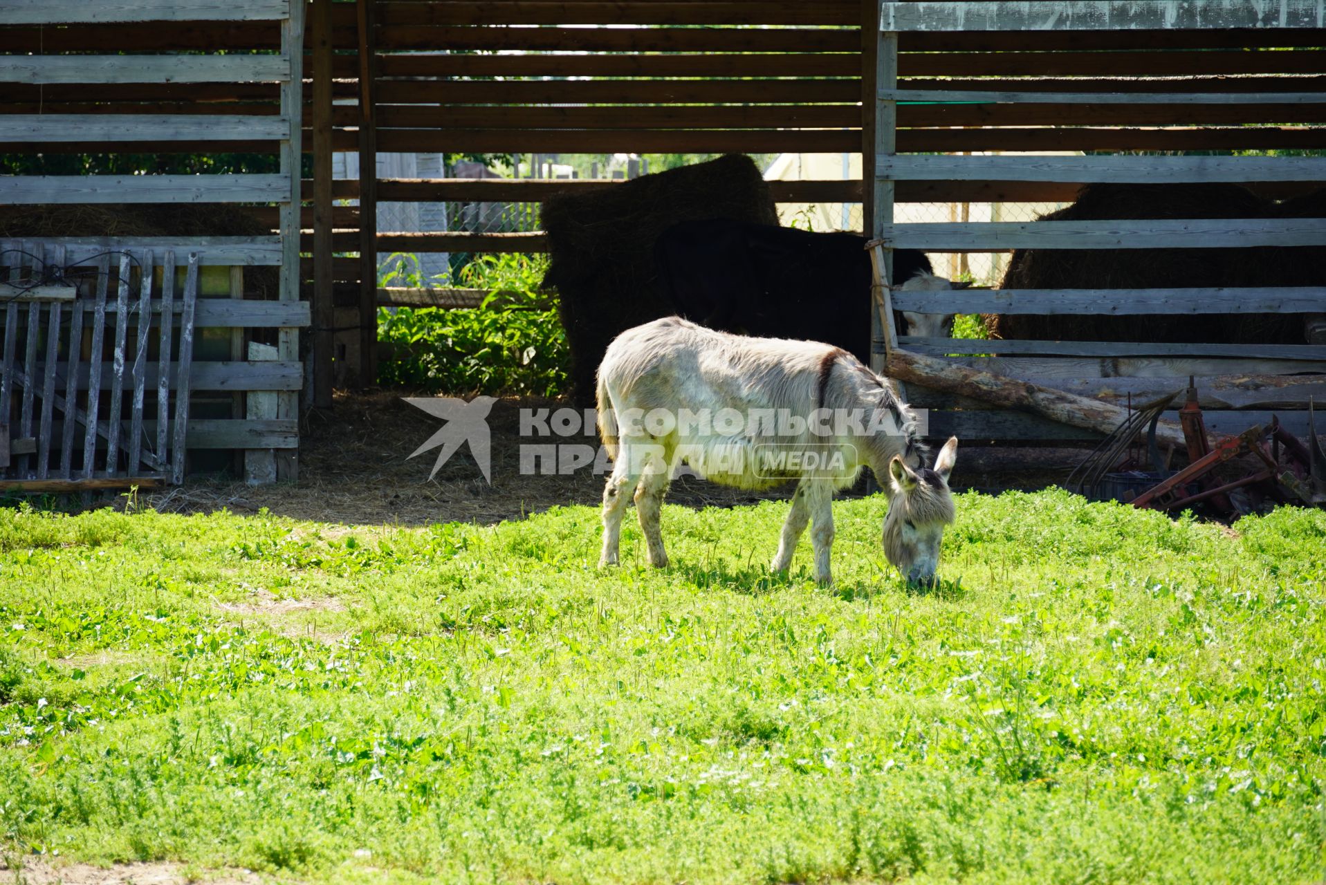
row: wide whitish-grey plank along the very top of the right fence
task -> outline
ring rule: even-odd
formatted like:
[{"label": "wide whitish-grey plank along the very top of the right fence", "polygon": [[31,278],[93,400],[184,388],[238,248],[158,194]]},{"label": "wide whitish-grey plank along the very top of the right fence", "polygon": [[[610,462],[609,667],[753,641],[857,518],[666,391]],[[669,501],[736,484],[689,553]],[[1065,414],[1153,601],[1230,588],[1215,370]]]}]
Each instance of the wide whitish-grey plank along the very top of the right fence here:
[{"label": "wide whitish-grey plank along the very top of the right fence", "polygon": [[884,3],[882,30],[1195,30],[1326,28],[1318,0],[1004,0]]}]

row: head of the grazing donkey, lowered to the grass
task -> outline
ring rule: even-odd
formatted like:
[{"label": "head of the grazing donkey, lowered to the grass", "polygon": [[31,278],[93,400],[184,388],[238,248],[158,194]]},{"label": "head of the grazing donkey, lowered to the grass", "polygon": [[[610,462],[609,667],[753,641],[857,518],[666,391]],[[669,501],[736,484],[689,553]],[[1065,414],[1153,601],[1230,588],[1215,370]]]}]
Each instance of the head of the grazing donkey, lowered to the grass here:
[{"label": "head of the grazing donkey, lowered to the grass", "polygon": [[957,437],[949,437],[934,468],[912,470],[898,456],[888,462],[891,498],[884,517],[884,555],[911,584],[930,584],[939,568],[944,526],[953,521],[948,474],[957,460]]}]

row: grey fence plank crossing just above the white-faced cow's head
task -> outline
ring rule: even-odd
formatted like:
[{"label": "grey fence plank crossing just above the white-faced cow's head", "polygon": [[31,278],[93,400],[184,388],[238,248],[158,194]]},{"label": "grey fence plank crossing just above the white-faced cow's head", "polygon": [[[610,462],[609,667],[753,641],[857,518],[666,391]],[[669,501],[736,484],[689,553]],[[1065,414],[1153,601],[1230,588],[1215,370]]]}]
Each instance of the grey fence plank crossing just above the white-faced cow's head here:
[{"label": "grey fence plank crossing just above the white-faced cow's head", "polygon": [[879,236],[926,252],[1318,246],[1326,245],[1326,219],[924,223],[884,225]]}]

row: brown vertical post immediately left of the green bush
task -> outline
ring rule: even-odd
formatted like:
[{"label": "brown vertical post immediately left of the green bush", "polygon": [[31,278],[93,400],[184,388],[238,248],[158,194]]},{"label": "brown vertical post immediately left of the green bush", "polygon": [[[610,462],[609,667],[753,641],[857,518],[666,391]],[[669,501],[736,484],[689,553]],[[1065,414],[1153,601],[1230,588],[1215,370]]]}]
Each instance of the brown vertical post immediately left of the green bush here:
[{"label": "brown vertical post immediately left of the green bush", "polygon": [[359,30],[359,387],[378,378],[378,132],[375,0],[358,0]]}]

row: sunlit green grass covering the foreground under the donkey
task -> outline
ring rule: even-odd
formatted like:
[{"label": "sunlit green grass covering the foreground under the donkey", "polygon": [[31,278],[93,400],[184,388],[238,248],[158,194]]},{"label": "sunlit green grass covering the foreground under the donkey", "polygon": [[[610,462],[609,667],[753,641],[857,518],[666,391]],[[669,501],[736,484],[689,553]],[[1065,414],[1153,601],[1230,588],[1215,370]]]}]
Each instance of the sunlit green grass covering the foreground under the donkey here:
[{"label": "sunlit green grass covering the foreground under the donkey", "polygon": [[[302,881],[1307,882],[1326,514],[960,501],[496,527],[0,511],[0,848]],[[329,600],[338,600],[330,605]]]}]

